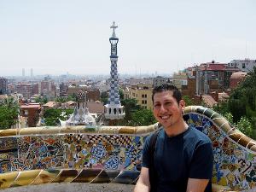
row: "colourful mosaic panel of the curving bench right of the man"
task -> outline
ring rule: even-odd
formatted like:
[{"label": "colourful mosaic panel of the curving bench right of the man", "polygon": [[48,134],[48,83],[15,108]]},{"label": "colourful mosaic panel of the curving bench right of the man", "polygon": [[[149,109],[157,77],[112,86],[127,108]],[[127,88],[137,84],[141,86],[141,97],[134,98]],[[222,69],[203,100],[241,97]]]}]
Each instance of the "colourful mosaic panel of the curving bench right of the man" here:
[{"label": "colourful mosaic panel of the curving bench right of the man", "polygon": [[212,183],[230,186],[231,189],[255,189],[256,154],[232,142],[228,135],[199,114],[185,117],[189,125],[203,131],[212,140],[214,166]]}]

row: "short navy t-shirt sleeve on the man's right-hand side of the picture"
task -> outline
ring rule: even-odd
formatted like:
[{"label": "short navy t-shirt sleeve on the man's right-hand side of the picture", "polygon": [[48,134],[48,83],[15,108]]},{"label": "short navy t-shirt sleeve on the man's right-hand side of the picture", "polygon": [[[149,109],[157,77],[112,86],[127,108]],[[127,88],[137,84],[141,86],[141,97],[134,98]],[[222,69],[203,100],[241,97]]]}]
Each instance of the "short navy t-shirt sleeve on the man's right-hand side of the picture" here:
[{"label": "short navy t-shirt sleeve on the man's right-hand side of the picture", "polygon": [[189,167],[189,178],[212,178],[213,151],[212,143],[203,143],[195,149]]}]

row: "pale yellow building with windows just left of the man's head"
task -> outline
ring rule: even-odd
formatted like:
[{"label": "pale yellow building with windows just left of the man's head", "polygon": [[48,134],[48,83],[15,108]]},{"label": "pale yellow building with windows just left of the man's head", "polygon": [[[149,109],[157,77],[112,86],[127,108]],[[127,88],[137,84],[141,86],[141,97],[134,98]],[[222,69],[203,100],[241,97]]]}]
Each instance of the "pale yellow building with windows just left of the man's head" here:
[{"label": "pale yellow building with windows just left of the man's head", "polygon": [[124,90],[125,99],[136,99],[141,108],[153,109],[152,84],[137,84],[126,87]]}]

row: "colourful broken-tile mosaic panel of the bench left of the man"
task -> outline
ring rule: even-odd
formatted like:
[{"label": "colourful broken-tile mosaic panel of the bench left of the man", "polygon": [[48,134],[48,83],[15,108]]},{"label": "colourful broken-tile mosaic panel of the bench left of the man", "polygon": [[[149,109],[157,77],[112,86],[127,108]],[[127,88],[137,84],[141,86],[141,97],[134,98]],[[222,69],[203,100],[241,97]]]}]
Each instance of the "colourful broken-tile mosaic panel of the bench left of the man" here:
[{"label": "colourful broken-tile mosaic panel of the bench left of the man", "polygon": [[[145,137],[68,134],[55,137],[4,138],[0,171],[47,168],[96,168],[137,171]],[[15,151],[15,154],[14,154]],[[17,153],[19,152],[19,153]]]}]

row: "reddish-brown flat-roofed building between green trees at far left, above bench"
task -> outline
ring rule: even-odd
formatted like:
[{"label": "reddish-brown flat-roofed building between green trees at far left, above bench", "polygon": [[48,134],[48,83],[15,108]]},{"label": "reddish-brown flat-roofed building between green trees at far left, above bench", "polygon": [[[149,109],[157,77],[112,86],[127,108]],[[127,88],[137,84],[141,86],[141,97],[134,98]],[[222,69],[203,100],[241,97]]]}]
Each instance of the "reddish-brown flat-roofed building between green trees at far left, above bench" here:
[{"label": "reddish-brown flat-roofed building between green trees at far left, above bench", "polygon": [[39,103],[26,103],[20,106],[20,116],[26,118],[28,127],[36,126],[41,112]]}]

